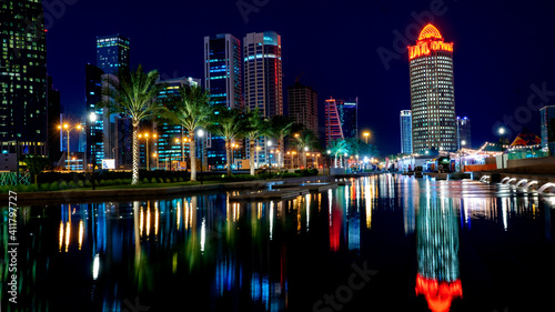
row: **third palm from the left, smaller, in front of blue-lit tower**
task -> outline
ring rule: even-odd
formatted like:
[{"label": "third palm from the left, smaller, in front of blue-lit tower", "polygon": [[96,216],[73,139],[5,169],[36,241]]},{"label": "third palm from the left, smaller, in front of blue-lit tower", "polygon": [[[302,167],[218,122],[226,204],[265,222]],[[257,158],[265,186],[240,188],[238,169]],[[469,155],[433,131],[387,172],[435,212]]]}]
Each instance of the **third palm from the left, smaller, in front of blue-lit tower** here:
[{"label": "third palm from the left, smaller, in front of blue-lit tower", "polygon": [[224,105],[220,105],[215,110],[219,113],[214,114],[213,123],[209,130],[222,137],[225,141],[228,175],[231,175],[231,144],[243,137],[246,122],[243,112],[239,109],[228,109]]}]

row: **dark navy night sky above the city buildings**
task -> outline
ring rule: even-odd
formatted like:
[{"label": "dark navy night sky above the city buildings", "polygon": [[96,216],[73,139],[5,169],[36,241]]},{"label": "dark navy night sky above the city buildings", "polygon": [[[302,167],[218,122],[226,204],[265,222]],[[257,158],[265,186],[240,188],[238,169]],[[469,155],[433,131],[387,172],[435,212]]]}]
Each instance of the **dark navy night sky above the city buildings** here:
[{"label": "dark navy night sky above the city buildings", "polygon": [[[398,114],[411,109],[404,40],[414,44],[418,14],[423,23],[433,17],[454,42],[456,114],[472,120],[474,148],[497,140],[493,129],[501,123],[513,138],[521,125],[539,135],[538,109],[555,104],[549,1],[43,1],[51,2],[64,7],[44,7],[48,72],[73,115],[84,109],[84,64],[95,64],[97,36],[130,38],[133,67],[202,79],[204,36],[229,32],[242,41],[248,32],[274,30],[282,37],[284,94],[304,72],[301,82],[319,92],[320,110],[330,95],[359,97],[359,129],[371,130],[382,155],[397,153]],[[242,14],[238,3],[253,11]],[[392,59],[384,63],[377,51]]]}]

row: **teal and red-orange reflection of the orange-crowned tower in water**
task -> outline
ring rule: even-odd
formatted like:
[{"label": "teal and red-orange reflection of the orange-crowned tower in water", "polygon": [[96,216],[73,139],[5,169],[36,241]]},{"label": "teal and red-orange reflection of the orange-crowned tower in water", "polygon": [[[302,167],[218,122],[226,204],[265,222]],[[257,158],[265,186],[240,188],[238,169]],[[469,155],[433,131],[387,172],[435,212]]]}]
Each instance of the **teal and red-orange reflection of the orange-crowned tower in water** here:
[{"label": "teal and red-orange reflection of the orange-crowned tower in water", "polygon": [[416,294],[434,312],[448,311],[463,295],[458,272],[458,224],[452,199],[421,198],[416,217]]}]

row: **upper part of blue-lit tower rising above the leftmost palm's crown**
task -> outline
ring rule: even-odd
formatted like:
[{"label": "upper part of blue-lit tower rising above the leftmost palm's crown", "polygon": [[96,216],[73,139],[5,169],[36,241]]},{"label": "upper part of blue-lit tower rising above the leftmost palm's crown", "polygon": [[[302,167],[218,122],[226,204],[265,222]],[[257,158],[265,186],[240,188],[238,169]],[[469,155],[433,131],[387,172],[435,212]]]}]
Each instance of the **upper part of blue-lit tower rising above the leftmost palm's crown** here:
[{"label": "upper part of blue-lit tower rising above the leftmost palm's crown", "polygon": [[97,67],[104,73],[129,68],[129,39],[120,34],[97,37]]}]

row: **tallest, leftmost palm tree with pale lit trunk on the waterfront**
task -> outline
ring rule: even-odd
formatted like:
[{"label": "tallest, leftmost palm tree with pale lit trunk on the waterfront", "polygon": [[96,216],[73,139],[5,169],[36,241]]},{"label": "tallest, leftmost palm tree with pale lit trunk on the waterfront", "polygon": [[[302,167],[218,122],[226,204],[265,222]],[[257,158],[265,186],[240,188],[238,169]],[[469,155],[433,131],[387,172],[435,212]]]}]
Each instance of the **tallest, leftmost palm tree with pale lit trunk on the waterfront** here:
[{"label": "tallest, leftmost palm tree with pale lit trunk on the waterfront", "polygon": [[102,95],[105,95],[100,108],[108,108],[110,113],[121,113],[131,118],[133,125],[133,171],[131,184],[139,184],[139,123],[164,109],[157,103],[163,84],[157,83],[158,71],[143,72],[142,66],[137,70],[122,69],[114,76],[108,76]]}]

